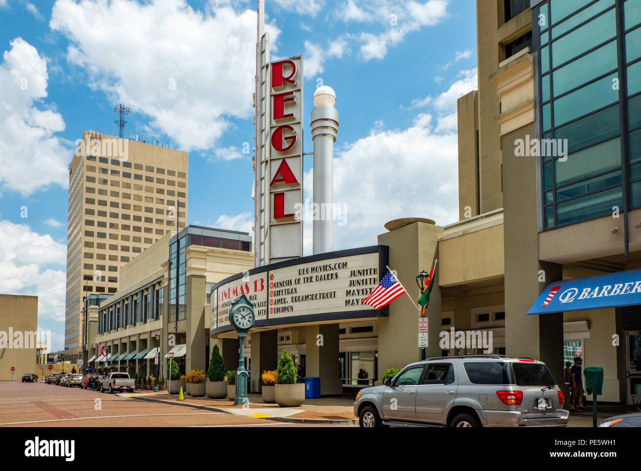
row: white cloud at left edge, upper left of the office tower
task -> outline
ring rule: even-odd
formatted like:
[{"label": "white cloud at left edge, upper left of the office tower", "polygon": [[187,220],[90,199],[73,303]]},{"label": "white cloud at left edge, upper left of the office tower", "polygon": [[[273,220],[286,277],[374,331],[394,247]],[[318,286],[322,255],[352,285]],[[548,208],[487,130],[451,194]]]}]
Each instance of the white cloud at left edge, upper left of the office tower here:
[{"label": "white cloud at left edge, upper left of the office tower", "polygon": [[66,188],[71,151],[54,136],[65,122],[36,107],[47,96],[47,58],[22,38],[10,45],[0,63],[0,188],[22,195],[51,184]]}]

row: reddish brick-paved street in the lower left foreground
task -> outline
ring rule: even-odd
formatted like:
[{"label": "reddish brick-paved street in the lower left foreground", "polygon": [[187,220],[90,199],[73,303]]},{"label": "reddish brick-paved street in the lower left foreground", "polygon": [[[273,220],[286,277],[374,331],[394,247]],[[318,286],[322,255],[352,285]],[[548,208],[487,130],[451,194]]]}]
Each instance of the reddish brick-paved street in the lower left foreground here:
[{"label": "reddish brick-paved street in the lower left foreground", "polygon": [[306,427],[137,401],[55,384],[0,381],[1,427]]}]

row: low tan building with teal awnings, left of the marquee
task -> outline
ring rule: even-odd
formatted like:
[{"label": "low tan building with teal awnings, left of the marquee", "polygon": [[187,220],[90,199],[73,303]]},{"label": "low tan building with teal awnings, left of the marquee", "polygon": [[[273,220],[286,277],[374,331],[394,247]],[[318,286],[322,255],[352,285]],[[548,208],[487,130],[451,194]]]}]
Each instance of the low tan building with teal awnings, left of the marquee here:
[{"label": "low tan building with teal awnings, left of the marquee", "polygon": [[[178,243],[176,240],[176,233],[171,232],[122,267],[121,290],[101,300],[95,309],[97,335],[88,347],[90,366],[119,367],[131,376],[155,374],[158,334],[161,375],[166,376],[170,351],[181,374],[206,370],[210,357],[208,288],[253,266],[251,236],[187,226],[179,232]],[[103,345],[106,357],[98,354],[97,343]]]}]

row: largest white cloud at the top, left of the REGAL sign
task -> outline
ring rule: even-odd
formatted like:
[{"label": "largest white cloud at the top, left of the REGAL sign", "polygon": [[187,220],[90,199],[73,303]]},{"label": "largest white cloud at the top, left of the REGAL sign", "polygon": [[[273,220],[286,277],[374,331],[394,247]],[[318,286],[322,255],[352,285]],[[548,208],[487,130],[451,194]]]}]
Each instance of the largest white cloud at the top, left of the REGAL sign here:
[{"label": "largest white cloud at the top, left of the REGAL sign", "polygon": [[[185,0],[57,0],[50,26],[69,38],[67,60],[87,70],[93,88],[149,115],[181,150],[215,147],[230,118],[253,113],[253,10],[226,2],[203,13]],[[274,53],[279,30],[266,29]]]}]

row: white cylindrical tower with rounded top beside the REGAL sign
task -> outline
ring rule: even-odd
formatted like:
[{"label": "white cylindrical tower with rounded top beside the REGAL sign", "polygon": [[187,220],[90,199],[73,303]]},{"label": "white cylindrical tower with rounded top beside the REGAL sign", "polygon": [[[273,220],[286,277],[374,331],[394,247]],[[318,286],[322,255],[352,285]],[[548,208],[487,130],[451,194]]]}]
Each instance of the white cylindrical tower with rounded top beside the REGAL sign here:
[{"label": "white cylindrical tower with rounded top beside the REGAL sign", "polygon": [[334,142],[338,135],[338,111],[334,108],[336,94],[323,86],[314,92],[310,128],[312,128],[314,176],[313,253],[334,250]]}]

